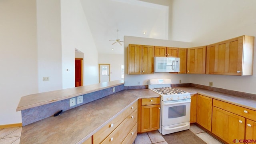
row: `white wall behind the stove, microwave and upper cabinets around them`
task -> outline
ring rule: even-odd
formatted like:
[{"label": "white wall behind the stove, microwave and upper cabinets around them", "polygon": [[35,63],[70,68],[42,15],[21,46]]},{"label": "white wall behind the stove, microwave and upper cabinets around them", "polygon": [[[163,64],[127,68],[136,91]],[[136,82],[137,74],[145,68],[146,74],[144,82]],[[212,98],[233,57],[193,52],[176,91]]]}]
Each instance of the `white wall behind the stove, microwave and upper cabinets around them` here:
[{"label": "white wall behind the stove, microwave and upper cabinets around them", "polygon": [[[189,42],[178,42],[172,40],[160,40],[153,38],[140,38],[134,36],[124,36],[124,85],[125,86],[136,86],[136,85],[148,85],[148,80],[152,78],[170,78],[172,83],[189,83],[188,74],[170,74],[168,72],[155,72],[154,74],[127,74],[127,46],[128,44],[141,44],[141,45],[152,45],[152,46],[170,46],[178,48],[191,47]],[[140,84],[138,84],[140,82]]]}]

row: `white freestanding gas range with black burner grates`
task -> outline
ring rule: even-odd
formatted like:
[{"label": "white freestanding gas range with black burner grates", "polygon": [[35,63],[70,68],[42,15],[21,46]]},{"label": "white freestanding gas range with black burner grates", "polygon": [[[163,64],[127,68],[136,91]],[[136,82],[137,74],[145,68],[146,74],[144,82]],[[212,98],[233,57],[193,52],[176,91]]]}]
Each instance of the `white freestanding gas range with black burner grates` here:
[{"label": "white freestanding gas range with black burner grates", "polygon": [[160,128],[165,135],[190,127],[190,93],[171,87],[170,79],[148,80],[148,89],[161,95]]}]

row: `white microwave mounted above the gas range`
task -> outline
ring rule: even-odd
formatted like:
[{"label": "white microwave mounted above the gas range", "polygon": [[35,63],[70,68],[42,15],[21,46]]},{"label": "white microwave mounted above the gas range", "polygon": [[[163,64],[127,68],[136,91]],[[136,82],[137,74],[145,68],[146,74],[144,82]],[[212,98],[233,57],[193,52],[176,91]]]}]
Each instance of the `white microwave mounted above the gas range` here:
[{"label": "white microwave mounted above the gas range", "polygon": [[154,57],[154,72],[180,72],[180,58]]}]

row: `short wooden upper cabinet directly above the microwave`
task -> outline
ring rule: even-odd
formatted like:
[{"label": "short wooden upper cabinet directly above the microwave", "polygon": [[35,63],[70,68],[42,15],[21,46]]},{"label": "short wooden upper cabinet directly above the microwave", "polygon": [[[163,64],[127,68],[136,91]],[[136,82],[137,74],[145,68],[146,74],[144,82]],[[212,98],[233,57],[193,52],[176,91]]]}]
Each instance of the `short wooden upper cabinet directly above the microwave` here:
[{"label": "short wooden upper cabinet directly above the microwave", "polygon": [[164,47],[164,46],[155,46],[154,47],[154,56],[155,57],[178,57],[178,48],[174,47]]}]

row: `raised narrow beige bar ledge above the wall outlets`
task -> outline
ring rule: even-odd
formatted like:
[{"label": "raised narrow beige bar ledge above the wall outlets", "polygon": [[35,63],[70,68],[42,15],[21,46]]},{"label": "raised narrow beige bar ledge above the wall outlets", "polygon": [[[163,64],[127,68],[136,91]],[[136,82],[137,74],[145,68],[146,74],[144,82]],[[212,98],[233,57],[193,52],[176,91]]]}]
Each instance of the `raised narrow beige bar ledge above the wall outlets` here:
[{"label": "raised narrow beige bar ledge above the wall outlets", "polygon": [[106,88],[119,86],[124,84],[123,80],[115,80],[111,82],[102,82],[99,84],[92,84],[88,86],[79,86],[75,88],[67,88],[63,90],[54,90],[50,92],[42,92],[38,94],[30,94],[28,96],[22,96],[16,111],[26,110],[28,108],[34,108],[36,106],[42,106],[44,104],[50,104],[52,102],[58,102],[75,96],[96,92]]}]

